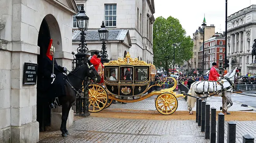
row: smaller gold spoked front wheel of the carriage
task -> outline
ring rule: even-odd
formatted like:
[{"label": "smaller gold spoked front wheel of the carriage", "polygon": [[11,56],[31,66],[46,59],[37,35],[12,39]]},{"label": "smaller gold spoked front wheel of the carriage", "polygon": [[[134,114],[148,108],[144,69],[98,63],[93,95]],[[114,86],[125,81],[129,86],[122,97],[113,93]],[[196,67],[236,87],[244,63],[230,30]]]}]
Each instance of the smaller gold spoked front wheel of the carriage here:
[{"label": "smaller gold spoked front wheel of the carriage", "polygon": [[173,94],[163,93],[156,98],[156,109],[164,115],[173,114],[178,108],[178,100]]}]

